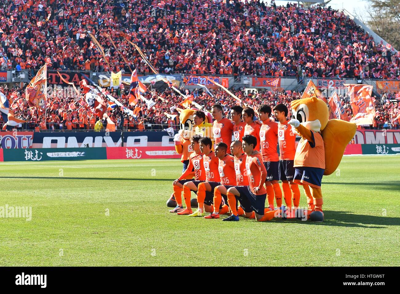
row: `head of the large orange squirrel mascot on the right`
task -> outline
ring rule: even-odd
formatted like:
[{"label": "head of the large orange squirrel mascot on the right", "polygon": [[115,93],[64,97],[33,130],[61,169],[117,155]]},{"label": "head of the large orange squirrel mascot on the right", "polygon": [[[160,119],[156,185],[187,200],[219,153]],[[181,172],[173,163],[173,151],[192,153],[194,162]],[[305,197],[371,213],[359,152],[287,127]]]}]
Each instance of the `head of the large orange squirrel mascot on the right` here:
[{"label": "head of the large orange squirrel mascot on the right", "polygon": [[[308,130],[320,132],[328,124],[328,106],[319,98],[311,97],[293,100],[290,106],[292,107],[292,118],[298,120]],[[293,126],[292,131],[298,134]]]}]

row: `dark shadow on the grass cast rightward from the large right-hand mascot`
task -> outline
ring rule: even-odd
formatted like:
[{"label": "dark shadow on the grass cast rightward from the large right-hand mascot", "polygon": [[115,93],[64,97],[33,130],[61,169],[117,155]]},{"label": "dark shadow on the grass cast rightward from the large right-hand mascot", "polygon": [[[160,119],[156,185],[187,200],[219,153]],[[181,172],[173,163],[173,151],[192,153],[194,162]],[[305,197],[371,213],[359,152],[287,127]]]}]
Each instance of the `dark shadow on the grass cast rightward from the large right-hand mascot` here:
[{"label": "dark shadow on the grass cast rightward from the large right-hand mascot", "polygon": [[[370,216],[364,214],[354,214],[353,212],[349,211],[334,210],[324,210],[324,216],[324,222],[310,222],[308,220],[304,221],[304,224],[315,226],[343,226],[376,229],[386,228],[386,226],[400,226],[400,218],[393,218],[389,216]],[[301,220],[288,221],[302,222]]]}]

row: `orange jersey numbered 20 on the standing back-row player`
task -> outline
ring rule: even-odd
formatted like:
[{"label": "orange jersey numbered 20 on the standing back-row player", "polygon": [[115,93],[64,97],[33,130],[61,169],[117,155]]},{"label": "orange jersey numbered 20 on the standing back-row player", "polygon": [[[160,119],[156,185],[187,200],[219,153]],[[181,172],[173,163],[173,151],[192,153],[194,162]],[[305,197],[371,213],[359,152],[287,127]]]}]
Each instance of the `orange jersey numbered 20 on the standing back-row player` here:
[{"label": "orange jersey numbered 20 on the standing back-row player", "polygon": [[267,119],[260,128],[261,158],[263,162],[278,161],[278,123]]}]

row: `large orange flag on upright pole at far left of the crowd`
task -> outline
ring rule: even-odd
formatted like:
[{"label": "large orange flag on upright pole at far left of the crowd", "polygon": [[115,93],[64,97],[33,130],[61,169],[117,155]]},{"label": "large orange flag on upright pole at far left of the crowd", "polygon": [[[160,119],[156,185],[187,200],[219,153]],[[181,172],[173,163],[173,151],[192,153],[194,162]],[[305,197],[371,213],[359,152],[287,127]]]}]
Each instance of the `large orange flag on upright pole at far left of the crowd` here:
[{"label": "large orange flag on upright pole at far left of the crowd", "polygon": [[25,89],[25,98],[30,106],[46,107],[47,98],[47,64],[42,66]]}]

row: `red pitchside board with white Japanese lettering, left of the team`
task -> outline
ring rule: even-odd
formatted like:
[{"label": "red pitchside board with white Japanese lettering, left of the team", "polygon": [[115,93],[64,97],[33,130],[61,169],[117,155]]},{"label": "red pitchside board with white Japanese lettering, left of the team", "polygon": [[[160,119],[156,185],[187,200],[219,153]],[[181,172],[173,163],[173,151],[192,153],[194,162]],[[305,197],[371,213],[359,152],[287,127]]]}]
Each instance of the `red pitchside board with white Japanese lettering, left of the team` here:
[{"label": "red pitchside board with white Japanese lettering, left of the team", "polygon": [[110,147],[107,149],[107,159],[168,159],[181,158],[175,147]]}]

